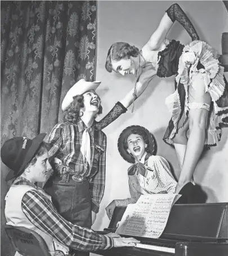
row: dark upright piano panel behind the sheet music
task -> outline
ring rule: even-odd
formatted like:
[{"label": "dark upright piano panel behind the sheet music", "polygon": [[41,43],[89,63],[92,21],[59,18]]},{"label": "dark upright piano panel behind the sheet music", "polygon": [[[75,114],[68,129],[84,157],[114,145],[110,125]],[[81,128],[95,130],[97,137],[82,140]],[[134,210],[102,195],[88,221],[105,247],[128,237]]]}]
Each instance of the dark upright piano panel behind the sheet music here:
[{"label": "dark upright piano panel behind the sheet music", "polygon": [[[126,207],[116,207],[108,229],[113,232]],[[228,203],[173,205],[160,238],[185,241],[228,240]],[[199,238],[199,240],[198,240]],[[212,238],[212,239],[210,239]]]}]

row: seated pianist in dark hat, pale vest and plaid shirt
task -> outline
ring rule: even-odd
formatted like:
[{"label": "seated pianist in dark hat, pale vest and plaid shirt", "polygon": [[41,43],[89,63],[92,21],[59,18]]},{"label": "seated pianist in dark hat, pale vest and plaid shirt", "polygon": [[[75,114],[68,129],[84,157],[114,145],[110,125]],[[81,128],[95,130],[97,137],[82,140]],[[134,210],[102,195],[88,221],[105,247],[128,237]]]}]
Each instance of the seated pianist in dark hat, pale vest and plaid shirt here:
[{"label": "seated pianist in dark hat, pale vest and plaid shirt", "polygon": [[[14,179],[6,195],[7,225],[37,232],[46,242],[51,256],[78,255],[77,252],[68,254],[69,248],[93,251],[132,246],[132,242],[138,242],[135,238],[120,238],[112,233],[99,235],[92,229],[79,227],[62,218],[51,197],[35,185],[45,183],[52,173],[43,142],[45,136],[46,133],[42,133],[33,140],[14,137],[5,141],[1,148],[2,162],[11,168],[6,181]],[[15,255],[21,254],[16,252]]]}]

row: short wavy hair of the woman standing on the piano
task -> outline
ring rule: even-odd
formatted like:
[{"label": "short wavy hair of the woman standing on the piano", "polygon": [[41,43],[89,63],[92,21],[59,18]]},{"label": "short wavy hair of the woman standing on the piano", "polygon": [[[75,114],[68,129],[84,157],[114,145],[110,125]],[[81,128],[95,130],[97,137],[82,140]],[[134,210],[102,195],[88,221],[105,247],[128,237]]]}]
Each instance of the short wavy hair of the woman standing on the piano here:
[{"label": "short wavy hair of the woman standing on the piano", "polygon": [[126,42],[116,42],[109,48],[106,58],[105,68],[111,73],[113,70],[112,60],[120,60],[123,58],[137,57],[139,50],[135,46],[131,46]]}]

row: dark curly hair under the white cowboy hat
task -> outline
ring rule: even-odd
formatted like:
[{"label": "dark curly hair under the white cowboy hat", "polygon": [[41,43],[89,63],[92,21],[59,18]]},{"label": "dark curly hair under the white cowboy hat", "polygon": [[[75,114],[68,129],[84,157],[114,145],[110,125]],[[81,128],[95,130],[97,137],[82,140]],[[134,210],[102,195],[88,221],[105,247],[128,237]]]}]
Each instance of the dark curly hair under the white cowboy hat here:
[{"label": "dark curly hair under the white cowboy hat", "polygon": [[[99,97],[100,99],[100,97]],[[64,111],[64,122],[77,123],[80,113],[80,109],[84,107],[84,96],[83,94],[76,95],[73,97],[73,101],[70,103],[68,109]],[[102,114],[102,106],[100,105],[97,115]]]}]

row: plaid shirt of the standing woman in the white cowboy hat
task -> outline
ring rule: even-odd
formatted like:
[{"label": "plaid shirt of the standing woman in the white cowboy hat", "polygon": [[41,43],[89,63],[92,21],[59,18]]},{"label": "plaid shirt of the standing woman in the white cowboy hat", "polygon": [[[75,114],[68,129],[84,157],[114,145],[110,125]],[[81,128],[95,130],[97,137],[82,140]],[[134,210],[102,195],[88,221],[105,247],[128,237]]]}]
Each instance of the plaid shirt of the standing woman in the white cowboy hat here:
[{"label": "plaid shirt of the standing woman in the white cowboy hat", "polygon": [[[85,129],[91,137],[91,164],[84,164],[81,153],[82,134]],[[95,128],[87,128],[81,119],[76,124],[65,122],[56,124],[47,138],[51,145],[49,157],[56,157],[69,167],[68,172],[87,177],[90,181],[92,211],[98,212],[105,189],[106,135]],[[56,171],[56,170],[55,170]]]}]

